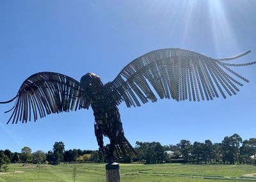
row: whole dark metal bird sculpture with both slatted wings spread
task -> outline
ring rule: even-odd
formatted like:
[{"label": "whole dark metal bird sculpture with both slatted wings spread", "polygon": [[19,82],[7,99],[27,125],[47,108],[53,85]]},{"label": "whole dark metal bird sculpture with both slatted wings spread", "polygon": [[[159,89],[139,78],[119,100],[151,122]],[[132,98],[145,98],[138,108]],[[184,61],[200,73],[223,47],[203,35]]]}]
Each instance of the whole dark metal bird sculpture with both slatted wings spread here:
[{"label": "whole dark metal bird sculpture with both slatted wings spread", "polygon": [[[134,59],[117,77],[103,84],[98,75],[86,73],[80,82],[66,75],[40,72],[31,75],[20,87],[17,95],[7,102],[16,100],[12,116],[7,123],[27,123],[44,118],[47,114],[92,107],[95,116],[95,135],[99,151],[104,152],[103,136],[110,140],[107,159],[113,162],[115,155],[136,154],[124,137],[118,111],[123,101],[127,107],[173,98],[182,101],[213,100],[219,96],[236,95],[239,79],[249,82],[229,66],[247,66],[225,63],[239,56],[213,59],[191,50],[160,49]],[[8,110],[6,112],[10,112]]]}]

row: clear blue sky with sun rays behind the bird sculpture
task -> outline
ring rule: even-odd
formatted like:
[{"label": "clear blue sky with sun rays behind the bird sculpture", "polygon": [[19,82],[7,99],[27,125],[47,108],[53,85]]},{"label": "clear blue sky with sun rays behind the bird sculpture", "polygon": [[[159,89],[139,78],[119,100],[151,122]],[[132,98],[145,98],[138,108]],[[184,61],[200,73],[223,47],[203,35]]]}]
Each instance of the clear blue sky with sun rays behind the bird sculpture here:
[{"label": "clear blue sky with sun rays behind the bird sculpture", "polygon": [[[0,100],[16,95],[36,72],[63,73],[76,80],[94,72],[104,83],[130,61],[151,50],[180,48],[210,57],[252,52],[232,63],[256,61],[256,1],[1,1]],[[211,102],[158,100],[119,107],[127,139],[177,144],[221,142],[238,133],[256,137],[256,66],[234,68],[250,80],[236,96]],[[36,123],[6,125],[0,105],[0,149],[97,149],[93,112],[52,114]],[[108,140],[105,140],[108,142]]]}]

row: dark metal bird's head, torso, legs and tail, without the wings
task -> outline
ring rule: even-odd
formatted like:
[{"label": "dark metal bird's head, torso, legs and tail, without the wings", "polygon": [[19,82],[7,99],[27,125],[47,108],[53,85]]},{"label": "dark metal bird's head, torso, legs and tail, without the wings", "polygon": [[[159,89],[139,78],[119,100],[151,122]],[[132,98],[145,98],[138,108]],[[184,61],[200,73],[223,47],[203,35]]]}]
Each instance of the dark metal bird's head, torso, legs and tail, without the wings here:
[{"label": "dark metal bird's head, torso, legs and tail, without the wings", "polygon": [[104,86],[100,77],[94,73],[87,73],[81,78],[81,87],[86,95],[92,99],[92,109],[95,117],[95,136],[99,149],[104,151],[103,135],[110,140],[108,159],[113,161],[113,152],[125,155],[127,152],[136,153],[131,144],[125,139],[120,119],[120,113],[115,99],[109,96],[111,90]]}]

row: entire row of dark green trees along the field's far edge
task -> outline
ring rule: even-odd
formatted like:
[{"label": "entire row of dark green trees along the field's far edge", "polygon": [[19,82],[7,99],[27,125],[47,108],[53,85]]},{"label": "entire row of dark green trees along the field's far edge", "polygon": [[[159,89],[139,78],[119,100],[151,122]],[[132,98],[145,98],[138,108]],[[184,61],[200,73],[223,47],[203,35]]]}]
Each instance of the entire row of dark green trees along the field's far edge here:
[{"label": "entire row of dark green trees along the field's far edge", "polygon": [[[106,146],[108,149],[108,145]],[[238,134],[225,137],[221,143],[211,140],[194,142],[182,139],[179,144],[162,146],[159,142],[136,142],[137,156],[118,158],[119,162],[131,163],[246,163],[256,165],[256,138],[242,140]],[[38,150],[32,153],[25,146],[20,153],[9,149],[0,150],[0,171],[6,171],[9,163],[50,163],[60,162],[106,162],[97,150],[68,149],[63,142],[55,142],[51,151]]]}]

